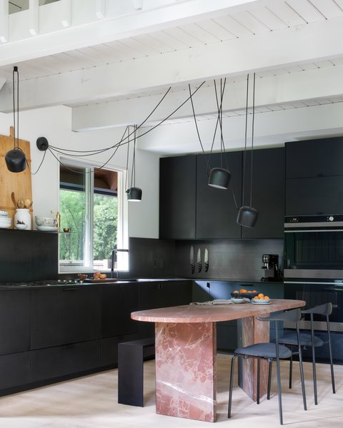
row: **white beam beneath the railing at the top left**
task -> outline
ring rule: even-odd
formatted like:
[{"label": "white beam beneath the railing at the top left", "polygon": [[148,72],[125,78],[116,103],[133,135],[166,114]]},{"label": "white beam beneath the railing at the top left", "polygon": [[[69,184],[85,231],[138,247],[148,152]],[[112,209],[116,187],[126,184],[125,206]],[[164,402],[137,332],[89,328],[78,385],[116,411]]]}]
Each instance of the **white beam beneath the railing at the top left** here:
[{"label": "white beam beneath the railing at the top left", "polygon": [[[70,1],[61,0],[53,4],[54,8],[63,9],[64,17],[62,20],[66,21],[65,24],[69,23],[69,25],[72,24]],[[131,1],[111,1],[109,4],[111,15],[109,13],[106,14],[106,19],[103,21],[99,21],[93,15],[94,21],[84,21],[78,26],[71,25],[69,28],[59,31],[53,29],[52,32],[46,29],[46,34],[40,34],[39,38],[30,40],[29,49],[27,39],[17,40],[14,36],[15,43],[9,43],[8,46],[7,44],[0,46],[0,66],[146,34],[151,31],[187,24],[198,19],[209,19],[229,13],[229,11],[244,9],[247,4],[254,4],[256,1],[187,0],[176,2],[174,0],[149,0],[149,4],[152,5],[151,8],[144,7],[144,9],[136,11],[136,13],[134,13]],[[79,9],[73,8],[74,14],[83,13],[82,3]],[[131,7],[131,9],[128,9],[128,7]],[[14,20],[16,19],[15,15],[12,16]],[[13,27],[15,29],[15,25]]]}]

